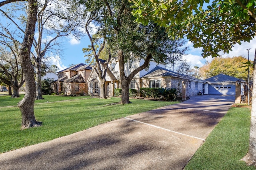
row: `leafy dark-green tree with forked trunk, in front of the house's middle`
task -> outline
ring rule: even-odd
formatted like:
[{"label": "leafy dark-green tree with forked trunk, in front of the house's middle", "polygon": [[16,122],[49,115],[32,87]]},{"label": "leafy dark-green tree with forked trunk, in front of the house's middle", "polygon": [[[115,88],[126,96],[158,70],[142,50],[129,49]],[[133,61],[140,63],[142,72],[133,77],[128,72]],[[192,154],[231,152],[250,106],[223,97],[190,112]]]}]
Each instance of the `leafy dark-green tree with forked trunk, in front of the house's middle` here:
[{"label": "leafy dark-green tree with forked trunk, in front of the house's middle", "polygon": [[[108,21],[113,28],[108,37],[108,44],[117,51],[120,80],[122,88],[122,104],[128,104],[129,85],[138,72],[148,67],[150,61],[165,63],[167,54],[175,53],[177,42],[171,41],[165,29],[150,23],[147,26],[134,23],[131,8],[127,0],[104,0],[108,10]],[[130,74],[125,72],[125,63],[135,59],[144,60],[144,63]]]}]

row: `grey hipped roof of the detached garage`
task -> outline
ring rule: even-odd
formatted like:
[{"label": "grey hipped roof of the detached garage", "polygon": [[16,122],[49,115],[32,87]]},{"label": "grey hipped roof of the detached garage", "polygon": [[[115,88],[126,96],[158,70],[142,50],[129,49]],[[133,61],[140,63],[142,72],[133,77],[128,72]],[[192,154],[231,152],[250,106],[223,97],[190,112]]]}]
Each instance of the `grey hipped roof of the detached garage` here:
[{"label": "grey hipped roof of the detached garage", "polygon": [[213,77],[205,79],[205,81],[208,83],[234,83],[236,81],[245,82],[244,80],[242,80],[240,78],[228,76],[226,74],[218,74],[217,76],[213,76]]}]

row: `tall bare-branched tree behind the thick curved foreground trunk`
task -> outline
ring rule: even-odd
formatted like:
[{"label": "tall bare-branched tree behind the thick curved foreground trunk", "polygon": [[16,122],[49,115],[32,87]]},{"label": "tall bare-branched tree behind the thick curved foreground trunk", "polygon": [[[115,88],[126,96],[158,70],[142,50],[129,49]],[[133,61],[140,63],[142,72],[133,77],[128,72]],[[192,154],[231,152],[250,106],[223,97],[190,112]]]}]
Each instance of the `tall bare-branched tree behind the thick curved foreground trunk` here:
[{"label": "tall bare-branched tree behind the thick curved foreground trunk", "polygon": [[[28,16],[26,5],[27,3],[24,2],[21,5],[12,7],[21,11],[24,10],[18,17],[18,20],[12,19],[12,13],[0,10],[12,24],[18,26],[19,32],[17,31],[16,33],[24,33],[25,28],[23,23],[27,20],[26,18]],[[78,20],[80,13],[76,9],[78,8],[75,8],[66,0],[38,1],[36,36],[34,36],[31,51],[36,72],[36,100],[43,99],[41,92],[42,60],[47,57],[46,55],[58,54],[58,51],[60,51],[58,48],[60,45],[60,42],[57,41],[58,38],[76,33],[75,28],[80,25],[80,20]],[[70,10],[73,11],[70,12]],[[6,26],[4,25],[3,27]],[[19,41],[19,39],[15,40]]]}]

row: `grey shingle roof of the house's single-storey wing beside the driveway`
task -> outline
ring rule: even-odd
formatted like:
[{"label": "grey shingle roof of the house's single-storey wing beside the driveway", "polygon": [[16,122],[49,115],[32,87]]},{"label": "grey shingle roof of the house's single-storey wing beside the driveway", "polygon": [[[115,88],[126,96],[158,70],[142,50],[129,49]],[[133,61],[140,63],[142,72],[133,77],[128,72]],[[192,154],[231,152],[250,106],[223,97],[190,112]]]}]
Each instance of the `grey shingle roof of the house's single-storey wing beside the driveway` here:
[{"label": "grey shingle roof of the house's single-storey wing beside the driveway", "polygon": [[142,78],[158,78],[158,77],[176,77],[176,78],[182,78],[185,80],[192,80],[195,82],[205,82],[204,80],[200,80],[198,78],[188,76],[185,74],[179,74],[177,72],[173,72],[171,70],[168,70],[166,68],[162,68],[160,66],[156,66],[153,68],[150,72],[145,74]]}]

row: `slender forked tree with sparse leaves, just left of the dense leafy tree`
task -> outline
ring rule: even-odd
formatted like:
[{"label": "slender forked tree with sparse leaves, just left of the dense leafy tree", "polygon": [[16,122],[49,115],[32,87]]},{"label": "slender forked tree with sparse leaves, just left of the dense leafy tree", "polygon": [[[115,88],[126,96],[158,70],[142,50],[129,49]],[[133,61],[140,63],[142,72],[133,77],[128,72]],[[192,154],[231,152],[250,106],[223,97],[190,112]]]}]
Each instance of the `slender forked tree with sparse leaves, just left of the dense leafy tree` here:
[{"label": "slender forked tree with sparse leaves, just left of the dense leafy tree", "polygon": [[[106,36],[108,34],[108,28],[106,28],[108,26],[106,8],[104,8],[102,1],[98,0],[84,1],[83,4],[86,7],[86,12],[84,14],[86,22],[84,27],[91,42],[89,48],[84,48],[83,51],[85,53],[89,53],[89,59],[92,55],[94,56],[94,70],[98,74],[98,78],[100,80],[100,98],[106,99],[105,83],[108,63],[111,59],[110,50],[108,51],[106,63],[101,63],[100,61],[100,54],[105,47]],[[94,27],[97,25],[98,30],[94,35],[91,35],[92,33],[90,33],[90,28],[93,25]]]}]

